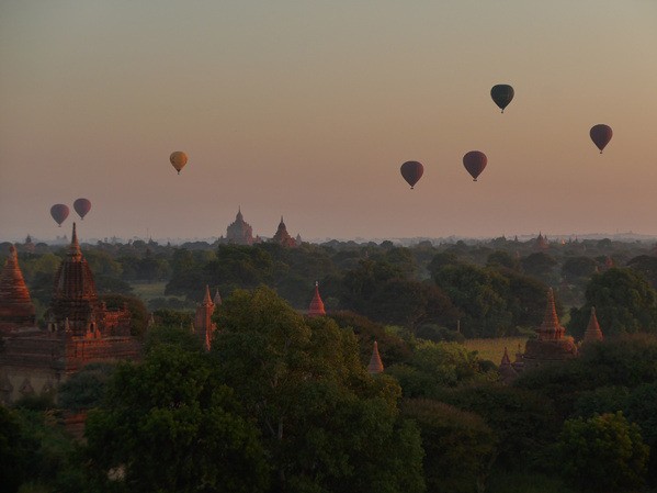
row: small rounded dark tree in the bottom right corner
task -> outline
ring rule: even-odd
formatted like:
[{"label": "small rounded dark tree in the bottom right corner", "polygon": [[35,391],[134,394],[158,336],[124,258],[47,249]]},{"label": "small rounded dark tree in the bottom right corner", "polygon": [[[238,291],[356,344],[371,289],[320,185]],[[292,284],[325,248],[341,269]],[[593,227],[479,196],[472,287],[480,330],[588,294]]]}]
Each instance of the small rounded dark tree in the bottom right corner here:
[{"label": "small rounded dark tree in the bottom right corner", "polygon": [[566,421],[558,450],[562,474],[582,492],[633,491],[644,482],[649,449],[621,412]]}]

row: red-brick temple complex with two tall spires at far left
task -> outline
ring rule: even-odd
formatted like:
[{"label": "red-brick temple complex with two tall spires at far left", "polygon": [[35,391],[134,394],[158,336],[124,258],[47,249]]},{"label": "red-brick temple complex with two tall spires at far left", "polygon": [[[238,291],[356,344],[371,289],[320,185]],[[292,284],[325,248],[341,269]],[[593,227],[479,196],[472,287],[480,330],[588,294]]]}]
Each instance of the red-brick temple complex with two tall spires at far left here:
[{"label": "red-brick temple complex with two tall spires at far left", "polygon": [[46,321],[46,327],[35,323],[34,305],[11,247],[0,276],[0,402],[54,393],[60,382],[90,362],[140,357],[140,344],[131,336],[129,311],[125,306],[109,310],[99,301],[75,224],[55,276]]}]

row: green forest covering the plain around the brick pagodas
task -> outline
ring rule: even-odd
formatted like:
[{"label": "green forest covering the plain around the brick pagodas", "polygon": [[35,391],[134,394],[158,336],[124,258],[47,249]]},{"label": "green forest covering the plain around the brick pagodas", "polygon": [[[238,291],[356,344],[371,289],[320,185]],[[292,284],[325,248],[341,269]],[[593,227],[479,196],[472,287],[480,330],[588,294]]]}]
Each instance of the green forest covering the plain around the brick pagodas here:
[{"label": "green forest covering the plain around the brick pagodas", "polygon": [[[16,247],[43,317],[65,250]],[[131,309],[144,360],[0,407],[8,491],[656,491],[652,244],[82,250],[107,304]],[[328,314],[310,318],[315,281]],[[189,330],[206,285],[223,299],[209,351]],[[535,337],[548,288],[567,334],[580,340],[594,306],[605,338],[505,384],[499,359],[464,343]],[[375,340],[385,372],[371,376]],[[61,425],[80,412],[82,441]]]}]

